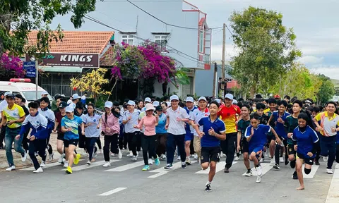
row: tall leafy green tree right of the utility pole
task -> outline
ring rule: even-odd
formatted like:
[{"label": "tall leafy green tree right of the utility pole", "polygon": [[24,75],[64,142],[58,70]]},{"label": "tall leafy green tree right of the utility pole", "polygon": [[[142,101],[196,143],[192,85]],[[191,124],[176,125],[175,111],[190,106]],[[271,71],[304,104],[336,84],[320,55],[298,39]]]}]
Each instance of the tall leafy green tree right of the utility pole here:
[{"label": "tall leafy green tree right of the utility pole", "polygon": [[230,17],[232,39],[239,50],[232,59],[230,74],[239,82],[244,94],[275,85],[292,62],[301,56],[295,47],[292,28],[283,25],[283,15],[275,11],[249,6]]}]

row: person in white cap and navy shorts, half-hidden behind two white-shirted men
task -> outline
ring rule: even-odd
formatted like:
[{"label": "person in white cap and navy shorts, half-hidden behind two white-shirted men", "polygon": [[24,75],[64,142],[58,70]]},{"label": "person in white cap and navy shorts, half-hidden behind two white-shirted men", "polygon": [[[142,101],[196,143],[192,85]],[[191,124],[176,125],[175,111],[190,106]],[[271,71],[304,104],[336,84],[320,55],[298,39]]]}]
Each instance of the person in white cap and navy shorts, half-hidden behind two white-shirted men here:
[{"label": "person in white cap and navy shorts, half-hidden behind two white-shirted men", "polygon": [[[189,116],[191,116],[193,111],[197,109],[196,106],[194,106],[193,97],[186,98],[186,106],[184,107],[184,109],[186,110],[187,114],[189,114]],[[186,164],[191,165],[191,160],[189,159],[189,156],[191,154],[191,141],[194,138],[194,135],[193,135],[194,129],[191,128],[189,123],[186,123],[185,130],[186,130],[186,135],[185,135]]]}]

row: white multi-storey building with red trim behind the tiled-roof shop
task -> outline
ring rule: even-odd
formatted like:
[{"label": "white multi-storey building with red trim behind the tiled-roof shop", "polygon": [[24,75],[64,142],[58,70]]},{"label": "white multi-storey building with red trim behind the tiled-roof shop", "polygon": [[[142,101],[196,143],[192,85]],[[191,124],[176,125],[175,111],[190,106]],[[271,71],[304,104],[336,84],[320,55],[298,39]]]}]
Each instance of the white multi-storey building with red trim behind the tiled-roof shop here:
[{"label": "white multi-storey building with red trim behind the tiled-roof shop", "polygon": [[[116,43],[138,45],[143,43],[143,39],[150,39],[166,47],[169,51],[168,55],[176,59],[177,66],[190,69],[188,75],[191,78],[190,85],[179,85],[179,89],[169,84],[167,86],[167,89],[170,87],[169,93],[177,92],[180,97],[194,94],[196,70],[210,68],[211,30],[206,21],[206,13],[186,1],[131,2],[144,11],[128,1],[97,1],[95,11],[89,13],[89,16],[120,30],[121,32],[114,30]],[[58,17],[54,22],[61,22],[64,30],[74,30],[73,25],[69,23],[69,17]],[[79,30],[112,31],[112,28],[88,19],[84,20],[85,23]],[[155,83],[153,95],[162,96],[162,85],[158,82]]]}]

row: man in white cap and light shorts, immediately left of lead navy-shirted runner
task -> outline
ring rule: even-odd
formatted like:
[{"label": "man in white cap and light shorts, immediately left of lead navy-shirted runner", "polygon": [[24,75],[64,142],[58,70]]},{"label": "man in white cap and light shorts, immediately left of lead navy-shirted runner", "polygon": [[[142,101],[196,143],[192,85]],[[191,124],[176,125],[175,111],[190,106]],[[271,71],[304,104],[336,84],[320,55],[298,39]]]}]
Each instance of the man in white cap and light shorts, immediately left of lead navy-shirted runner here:
[{"label": "man in white cap and light shorts, immediately left of lead navy-shirted runner", "polygon": [[[198,125],[201,118],[210,116],[210,112],[207,109],[207,99],[206,97],[200,97],[198,99],[199,108],[194,110],[192,115],[189,117],[189,124],[192,125],[194,128],[195,125]],[[201,131],[203,130],[203,126],[199,128]],[[199,137],[198,133],[196,133],[196,130],[194,132],[194,141],[193,141],[193,147],[194,152],[198,154],[198,160],[201,161],[201,137]],[[188,159],[188,160],[187,160]],[[189,157],[186,157],[186,163],[190,162]]]}]

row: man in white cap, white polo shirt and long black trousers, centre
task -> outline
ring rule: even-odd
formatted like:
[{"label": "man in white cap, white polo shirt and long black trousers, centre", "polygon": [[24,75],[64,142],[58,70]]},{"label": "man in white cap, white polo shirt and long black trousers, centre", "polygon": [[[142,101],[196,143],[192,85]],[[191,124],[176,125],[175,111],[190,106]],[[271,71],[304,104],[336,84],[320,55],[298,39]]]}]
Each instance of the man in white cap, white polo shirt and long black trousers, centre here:
[{"label": "man in white cap, white polo shirt and long black trousers, centre", "polygon": [[182,168],[186,168],[186,153],[184,147],[185,140],[185,122],[189,122],[189,114],[186,110],[179,106],[179,97],[172,95],[169,100],[171,101],[171,108],[167,110],[167,121],[165,128],[167,130],[167,164],[165,169],[173,168],[173,159],[175,147],[178,150],[182,160]]}]

